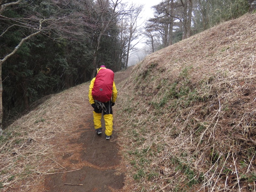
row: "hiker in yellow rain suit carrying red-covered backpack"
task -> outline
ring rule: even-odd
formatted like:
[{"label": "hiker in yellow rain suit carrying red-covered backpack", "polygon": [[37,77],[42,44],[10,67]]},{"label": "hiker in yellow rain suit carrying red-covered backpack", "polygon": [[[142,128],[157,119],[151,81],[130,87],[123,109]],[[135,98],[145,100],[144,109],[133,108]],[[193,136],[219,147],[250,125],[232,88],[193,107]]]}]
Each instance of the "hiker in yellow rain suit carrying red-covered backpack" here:
[{"label": "hiker in yellow rain suit carrying red-covered backpack", "polygon": [[89,102],[94,108],[93,122],[98,135],[102,133],[101,113],[105,120],[106,140],[109,140],[113,131],[113,111],[117,98],[117,90],[114,82],[114,72],[104,65],[97,69],[97,75],[91,81],[89,88]]}]

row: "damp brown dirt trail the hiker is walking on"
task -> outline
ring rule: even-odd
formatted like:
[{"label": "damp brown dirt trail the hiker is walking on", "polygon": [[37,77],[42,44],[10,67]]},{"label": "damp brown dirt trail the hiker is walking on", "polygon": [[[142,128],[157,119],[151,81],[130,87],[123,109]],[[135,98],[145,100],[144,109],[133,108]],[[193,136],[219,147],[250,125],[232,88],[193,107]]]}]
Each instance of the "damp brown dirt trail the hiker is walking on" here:
[{"label": "damp brown dirt trail the hiker is walking on", "polygon": [[[120,82],[125,80],[131,73],[132,67],[115,74],[117,91]],[[89,89],[89,87],[88,87]],[[87,92],[88,95],[88,92]],[[91,192],[91,191],[124,191],[123,174],[124,165],[120,163],[121,156],[117,143],[118,136],[115,128],[115,108],[118,107],[118,97],[114,111],[113,137],[105,140],[105,123],[102,118],[103,133],[98,136],[93,127],[92,107],[85,97],[80,103],[84,109],[84,117],[78,126],[70,125],[72,130],[60,135],[58,151],[52,161],[58,162],[62,167],[60,173],[47,175],[32,191],[49,192]],[[64,152],[63,152],[64,151]],[[70,185],[68,185],[70,184]],[[72,185],[71,185],[72,184]],[[79,185],[78,185],[79,184]]]}]

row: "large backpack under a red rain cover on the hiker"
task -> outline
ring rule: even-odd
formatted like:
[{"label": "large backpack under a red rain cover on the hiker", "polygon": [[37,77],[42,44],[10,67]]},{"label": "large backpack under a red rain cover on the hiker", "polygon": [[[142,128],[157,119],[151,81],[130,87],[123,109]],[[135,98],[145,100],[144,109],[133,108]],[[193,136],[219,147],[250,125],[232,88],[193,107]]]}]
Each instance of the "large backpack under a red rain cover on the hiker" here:
[{"label": "large backpack under a red rain cover on the hiker", "polygon": [[114,72],[110,69],[100,69],[95,77],[92,88],[93,99],[102,103],[110,101],[112,97],[113,82]]}]

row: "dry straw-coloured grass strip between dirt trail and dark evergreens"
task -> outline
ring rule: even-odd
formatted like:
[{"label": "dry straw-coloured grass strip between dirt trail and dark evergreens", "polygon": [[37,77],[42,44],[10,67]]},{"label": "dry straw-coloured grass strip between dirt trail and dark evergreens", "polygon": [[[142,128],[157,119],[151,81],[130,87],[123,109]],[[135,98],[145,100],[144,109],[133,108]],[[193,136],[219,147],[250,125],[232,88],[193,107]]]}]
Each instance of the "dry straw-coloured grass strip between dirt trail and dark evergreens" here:
[{"label": "dry straw-coloured grass strip between dirt trail and dark evergreens", "polygon": [[58,137],[65,137],[84,118],[79,102],[84,101],[87,87],[79,85],[52,95],[4,130],[0,138],[1,190],[27,191],[43,175],[67,172],[54,154],[68,152],[58,150],[65,145]]}]

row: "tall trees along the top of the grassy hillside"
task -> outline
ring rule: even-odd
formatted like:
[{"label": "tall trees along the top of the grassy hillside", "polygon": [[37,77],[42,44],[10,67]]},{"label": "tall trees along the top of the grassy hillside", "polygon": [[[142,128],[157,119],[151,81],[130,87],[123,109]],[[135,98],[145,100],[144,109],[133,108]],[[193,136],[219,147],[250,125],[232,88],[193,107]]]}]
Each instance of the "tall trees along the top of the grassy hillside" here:
[{"label": "tall trees along the top of the grassy hillside", "polygon": [[249,10],[249,3],[248,0],[163,0],[152,8],[154,17],[147,21],[144,35],[154,52],[243,15]]}]

